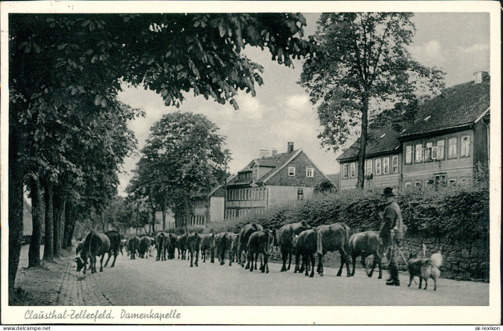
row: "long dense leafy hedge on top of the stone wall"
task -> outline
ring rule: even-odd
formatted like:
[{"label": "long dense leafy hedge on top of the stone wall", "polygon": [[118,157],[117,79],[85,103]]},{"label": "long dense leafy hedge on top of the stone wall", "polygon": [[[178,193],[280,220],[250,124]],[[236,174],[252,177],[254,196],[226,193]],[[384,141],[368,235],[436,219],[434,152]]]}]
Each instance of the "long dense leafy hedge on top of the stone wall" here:
[{"label": "long dense leafy hedge on top of the stone wall", "polygon": [[[487,240],[489,233],[489,190],[486,185],[448,187],[439,191],[410,190],[396,197],[402,210],[407,236],[448,238],[462,241]],[[381,195],[370,191],[345,190],[314,196],[295,206],[272,208],[264,215],[226,219],[208,224],[206,231],[239,232],[246,223],[265,228],[305,220],[311,226],[344,222],[351,233],[379,230]]]}]

